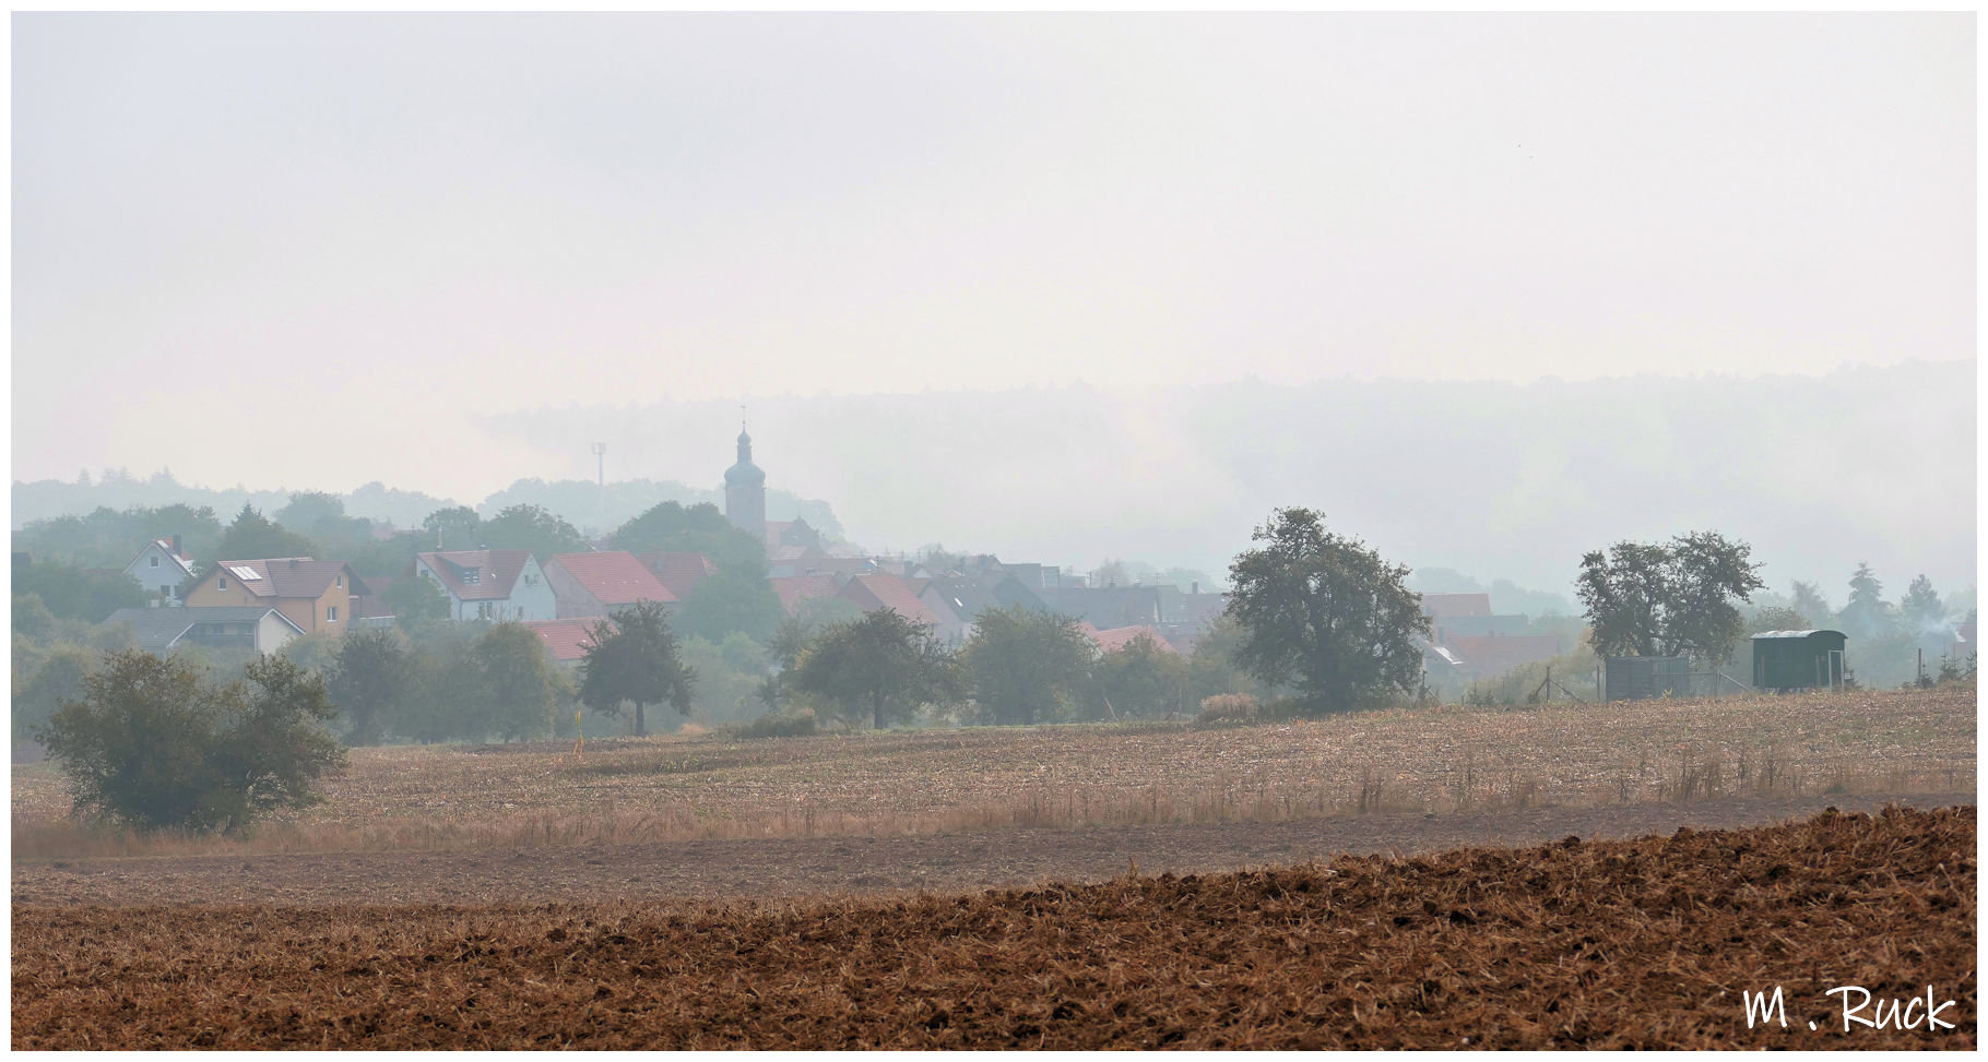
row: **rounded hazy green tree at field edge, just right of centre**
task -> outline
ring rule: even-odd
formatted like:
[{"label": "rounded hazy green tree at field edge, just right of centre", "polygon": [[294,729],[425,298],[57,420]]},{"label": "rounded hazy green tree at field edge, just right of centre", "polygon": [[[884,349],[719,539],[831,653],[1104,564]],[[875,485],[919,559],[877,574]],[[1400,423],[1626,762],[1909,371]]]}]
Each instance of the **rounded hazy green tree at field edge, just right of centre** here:
[{"label": "rounded hazy green tree at field edge, just right of centre", "polygon": [[1095,657],[1097,643],[1076,619],[1024,605],[984,609],[960,651],[974,701],[994,723],[1020,727],[1070,715]]}]

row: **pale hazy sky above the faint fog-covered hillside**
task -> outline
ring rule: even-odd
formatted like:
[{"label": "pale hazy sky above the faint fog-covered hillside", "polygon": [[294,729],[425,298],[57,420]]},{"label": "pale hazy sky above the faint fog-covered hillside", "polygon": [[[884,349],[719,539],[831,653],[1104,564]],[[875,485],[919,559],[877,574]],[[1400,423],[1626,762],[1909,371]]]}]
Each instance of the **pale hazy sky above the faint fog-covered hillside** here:
[{"label": "pale hazy sky above the faint fog-covered hillside", "polygon": [[479,427],[547,405],[1974,357],[1972,14],[12,28],[16,478],[473,500],[590,468]]}]

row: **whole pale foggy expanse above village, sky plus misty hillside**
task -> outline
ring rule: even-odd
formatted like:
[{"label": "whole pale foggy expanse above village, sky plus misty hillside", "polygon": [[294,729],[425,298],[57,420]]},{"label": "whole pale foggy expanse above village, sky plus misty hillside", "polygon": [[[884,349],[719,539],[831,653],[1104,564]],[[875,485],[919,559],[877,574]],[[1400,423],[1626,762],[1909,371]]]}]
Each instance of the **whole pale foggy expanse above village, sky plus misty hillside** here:
[{"label": "whole pale foggy expanse above village, sky plus misty hillside", "polygon": [[14,476],[710,488],[744,403],[869,548],[1972,584],[1972,30],[24,14]]}]

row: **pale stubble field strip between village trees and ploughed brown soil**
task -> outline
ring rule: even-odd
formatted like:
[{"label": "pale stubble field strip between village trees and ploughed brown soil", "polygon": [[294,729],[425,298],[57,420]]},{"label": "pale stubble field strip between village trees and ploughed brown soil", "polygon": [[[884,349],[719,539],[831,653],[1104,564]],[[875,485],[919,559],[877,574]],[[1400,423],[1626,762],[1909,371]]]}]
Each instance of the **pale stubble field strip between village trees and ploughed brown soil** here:
[{"label": "pale stubble field strip between village trees and ploughed brown soil", "polygon": [[30,764],[14,768],[14,854],[513,850],[1968,792],[1974,732],[1972,691],[1893,691],[1252,727],[612,738],[582,756],[561,742],[360,748],[322,806],[248,842],[78,830],[54,764]]}]

